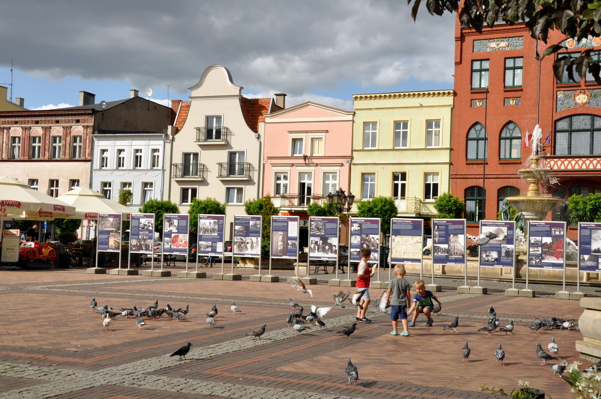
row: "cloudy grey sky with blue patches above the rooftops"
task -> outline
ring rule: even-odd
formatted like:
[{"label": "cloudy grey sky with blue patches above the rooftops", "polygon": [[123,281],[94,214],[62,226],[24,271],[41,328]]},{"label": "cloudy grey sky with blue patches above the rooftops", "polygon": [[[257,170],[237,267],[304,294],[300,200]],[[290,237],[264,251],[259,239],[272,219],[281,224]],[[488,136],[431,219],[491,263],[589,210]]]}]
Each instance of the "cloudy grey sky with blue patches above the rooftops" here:
[{"label": "cloudy grey sky with blue patches above the rooftops", "polygon": [[153,90],[188,100],[209,65],[250,98],[352,110],[353,94],[453,88],[454,15],[399,0],[19,0],[0,4],[0,85],[25,108]]}]

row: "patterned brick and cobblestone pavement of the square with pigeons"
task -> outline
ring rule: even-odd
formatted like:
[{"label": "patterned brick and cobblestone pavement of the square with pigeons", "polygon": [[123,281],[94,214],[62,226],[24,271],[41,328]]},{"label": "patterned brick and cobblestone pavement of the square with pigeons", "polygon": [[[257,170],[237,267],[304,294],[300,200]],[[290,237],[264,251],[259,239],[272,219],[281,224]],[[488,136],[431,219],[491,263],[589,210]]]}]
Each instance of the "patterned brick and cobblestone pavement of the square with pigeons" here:
[{"label": "patterned brick and cobblestone pavement of the square with pigeons", "polygon": [[[256,273],[236,271],[245,278]],[[282,278],[291,274],[279,272]],[[535,344],[546,347],[553,336],[560,354],[572,362],[578,359],[574,347],[581,334],[554,330],[537,335],[524,325],[534,316],[578,318],[578,301],[505,297],[494,290],[507,283],[491,282],[494,293],[486,296],[457,294],[453,287],[438,293],[444,306],[434,326],[425,327],[420,318],[410,337],[391,336],[388,315],[374,312],[373,323],[359,324],[352,339],[334,334],[338,326],[352,322],[355,311],[350,306],[332,309],[325,329],[311,327],[296,336],[284,321],[290,312],[285,299],[292,297],[305,308],[331,306],[337,291],[325,284],[331,276],[320,275],[311,299],[285,282],[87,275],[79,268],[0,271],[0,397],[287,398],[302,392],[304,397],[320,398],[486,398],[494,395],[478,392],[480,386],[511,390],[520,379],[548,397],[570,396],[568,384],[553,380],[551,368],[538,364]],[[372,296],[381,292],[373,290]],[[148,306],[159,299],[159,306],[189,304],[191,312],[179,322],[148,320],[141,331],[135,320],[115,318],[106,332],[102,318],[88,306],[91,296],[115,309]],[[242,314],[230,311],[231,300]],[[218,326],[209,329],[204,313],[213,303],[219,309]],[[476,331],[486,324],[490,305],[501,323],[515,320],[516,335],[489,337]],[[442,330],[454,315],[460,315],[462,334]],[[264,340],[244,335],[263,323]],[[468,363],[460,355],[465,340],[472,348]],[[167,356],[186,342],[193,344],[189,361]],[[493,356],[499,342],[507,352],[505,366]],[[359,368],[356,387],[345,385],[347,357]]]}]

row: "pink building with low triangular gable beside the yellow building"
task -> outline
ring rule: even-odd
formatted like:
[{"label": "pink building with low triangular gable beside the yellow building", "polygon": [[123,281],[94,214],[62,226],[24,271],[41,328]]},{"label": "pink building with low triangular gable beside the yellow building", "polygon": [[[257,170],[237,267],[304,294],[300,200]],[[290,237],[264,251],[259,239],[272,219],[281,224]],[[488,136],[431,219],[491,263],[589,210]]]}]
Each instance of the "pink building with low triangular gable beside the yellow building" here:
[{"label": "pink building with low triangular gable beside the yellow building", "polygon": [[308,239],[307,205],[339,188],[349,192],[352,134],[353,111],[312,102],[265,115],[263,195],[281,215],[300,216],[301,248]]}]

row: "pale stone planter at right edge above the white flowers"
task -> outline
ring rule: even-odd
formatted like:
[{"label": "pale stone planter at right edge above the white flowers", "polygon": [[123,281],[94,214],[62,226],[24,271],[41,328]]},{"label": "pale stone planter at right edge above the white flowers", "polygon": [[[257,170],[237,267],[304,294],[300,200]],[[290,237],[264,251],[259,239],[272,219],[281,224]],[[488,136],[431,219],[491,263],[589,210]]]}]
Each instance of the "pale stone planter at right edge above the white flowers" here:
[{"label": "pale stone planter at right edge above the white flowers", "polygon": [[580,300],[584,312],[578,319],[582,340],[576,341],[580,357],[591,362],[601,359],[601,297],[584,297]]}]

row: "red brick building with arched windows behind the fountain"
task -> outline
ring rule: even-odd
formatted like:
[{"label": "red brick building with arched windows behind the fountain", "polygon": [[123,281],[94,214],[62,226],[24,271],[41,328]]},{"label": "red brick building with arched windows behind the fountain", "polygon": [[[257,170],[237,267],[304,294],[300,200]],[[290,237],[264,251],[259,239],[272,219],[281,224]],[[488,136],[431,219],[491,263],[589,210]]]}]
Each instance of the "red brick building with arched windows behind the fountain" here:
[{"label": "red brick building with arched windows behind the fountain", "polygon": [[[563,44],[578,56],[601,40],[575,43],[549,31],[548,44],[538,41],[537,49],[525,23],[498,23],[478,34],[457,20],[455,43],[451,193],[466,201],[468,234],[477,233],[478,221],[496,219],[505,197],[526,192],[517,171],[528,163],[531,150],[524,147],[524,137],[537,120],[545,153],[540,164],[552,169],[552,183],[543,191],[564,200],[600,192],[601,86],[592,76],[570,82],[567,73],[557,82],[554,56],[539,64],[536,53]],[[591,55],[600,59],[601,47]],[[575,238],[575,231],[569,235]]]}]

